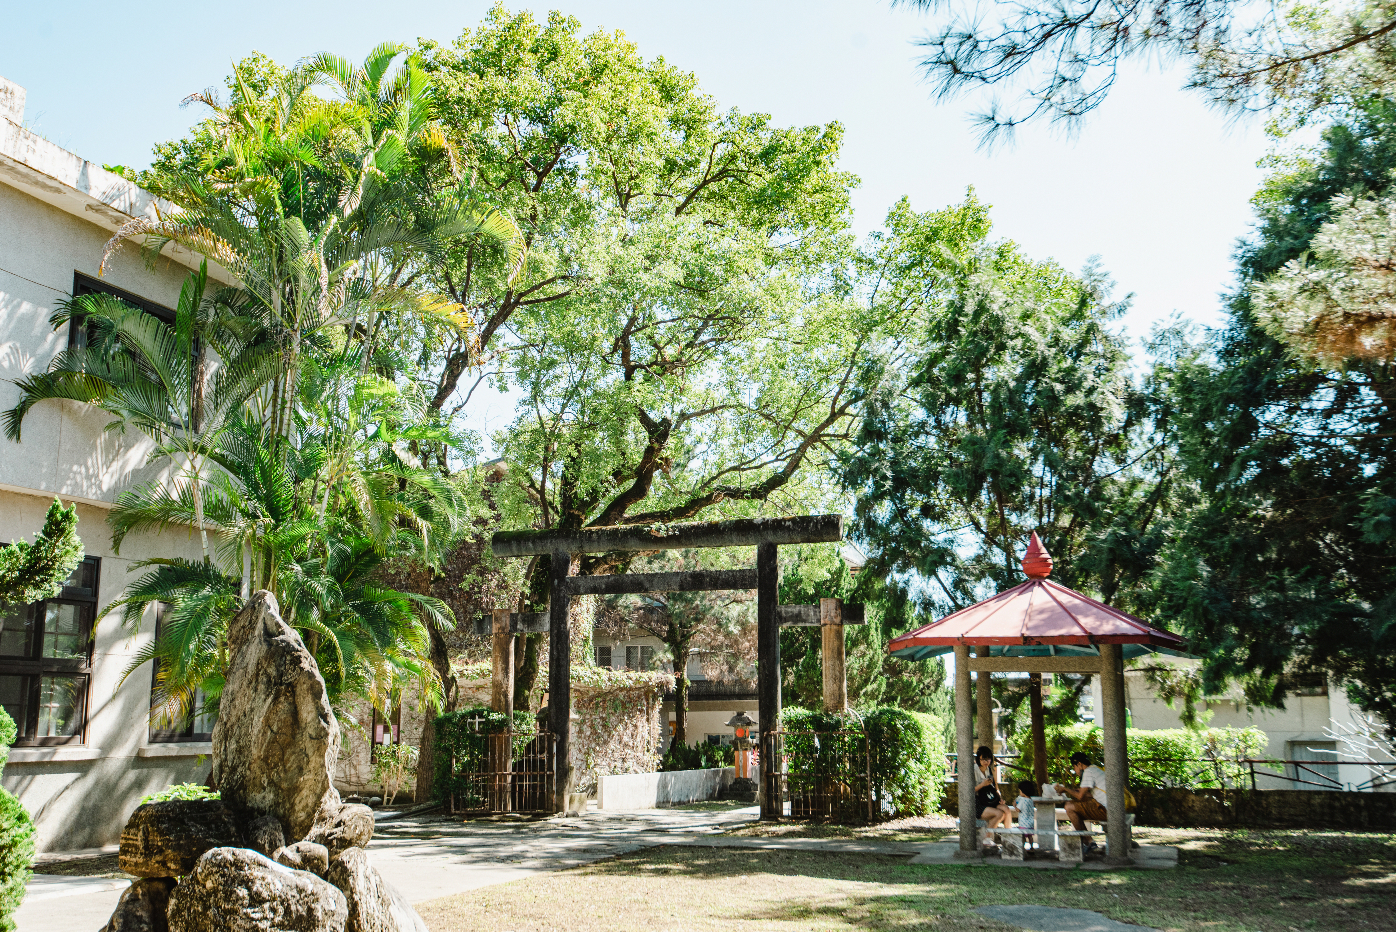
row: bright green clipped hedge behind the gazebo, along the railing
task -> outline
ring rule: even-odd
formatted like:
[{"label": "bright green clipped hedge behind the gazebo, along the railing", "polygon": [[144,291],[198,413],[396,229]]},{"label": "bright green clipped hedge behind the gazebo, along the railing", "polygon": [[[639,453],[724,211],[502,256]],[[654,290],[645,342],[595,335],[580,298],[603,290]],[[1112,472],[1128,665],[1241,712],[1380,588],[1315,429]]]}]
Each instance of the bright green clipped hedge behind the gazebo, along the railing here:
[{"label": "bright green clipped hedge behind the gazebo, along the railing", "polygon": [[[1104,756],[1104,732],[1099,726],[1082,723],[1047,730],[1047,779],[1071,781],[1071,755],[1083,751],[1092,760]],[[1266,737],[1259,728],[1129,728],[1125,746],[1129,755],[1129,786],[1182,787],[1215,790],[1235,786],[1249,779],[1247,765],[1233,763],[1238,758],[1254,758],[1265,751]],[[1018,766],[1033,772],[1032,741],[1023,741]],[[1020,779],[1011,772],[1012,780]],[[1004,774],[1009,780],[1009,773]]]}]

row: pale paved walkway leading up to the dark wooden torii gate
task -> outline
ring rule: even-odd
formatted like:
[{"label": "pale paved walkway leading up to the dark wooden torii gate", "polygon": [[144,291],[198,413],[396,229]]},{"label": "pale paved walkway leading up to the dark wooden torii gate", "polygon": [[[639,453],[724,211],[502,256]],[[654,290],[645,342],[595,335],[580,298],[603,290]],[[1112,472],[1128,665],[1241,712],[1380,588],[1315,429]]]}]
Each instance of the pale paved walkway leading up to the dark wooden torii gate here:
[{"label": "pale paved walkway leading up to the dark wooden torii gate", "polygon": [[[369,845],[369,855],[374,866],[412,903],[549,871],[575,868],[660,844],[892,854],[913,857],[914,864],[963,864],[951,858],[953,843],[910,845],[840,839],[720,834],[757,819],[758,815],[757,806],[715,811],[593,809],[585,818],[535,822],[462,823],[438,815],[422,815],[378,823]],[[1173,854],[1173,864],[1177,864],[1175,850],[1168,851]],[[988,859],[988,862],[995,861],[998,859]],[[1004,864],[1018,866],[1023,862]],[[1075,865],[1053,864],[1053,866],[1060,869]],[[1083,866],[1100,869],[1104,865]],[[126,889],[124,880],[35,875],[24,905],[15,914],[18,932],[101,929],[116,908],[123,889]]]}]

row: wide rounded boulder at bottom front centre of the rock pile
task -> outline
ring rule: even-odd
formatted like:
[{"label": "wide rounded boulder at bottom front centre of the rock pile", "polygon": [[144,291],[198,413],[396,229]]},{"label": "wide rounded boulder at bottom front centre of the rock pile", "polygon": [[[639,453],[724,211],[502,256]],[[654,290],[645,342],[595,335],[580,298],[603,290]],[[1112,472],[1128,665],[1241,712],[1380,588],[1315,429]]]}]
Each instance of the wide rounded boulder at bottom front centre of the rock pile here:
[{"label": "wide rounded boulder at bottom front centre of the rock pile", "polygon": [[343,932],[345,894],[250,848],[214,848],[169,903],[170,932]]}]

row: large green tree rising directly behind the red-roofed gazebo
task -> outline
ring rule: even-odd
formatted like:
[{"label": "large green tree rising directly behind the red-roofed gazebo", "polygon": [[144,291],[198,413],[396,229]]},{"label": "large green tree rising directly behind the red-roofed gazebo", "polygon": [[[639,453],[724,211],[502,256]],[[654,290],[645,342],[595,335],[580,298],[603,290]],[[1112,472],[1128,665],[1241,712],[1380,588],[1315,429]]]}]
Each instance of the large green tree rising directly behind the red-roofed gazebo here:
[{"label": "large green tree rising directly behind the red-roofed gazebo", "polygon": [[973,200],[888,218],[864,262],[884,352],[842,476],[868,571],[937,611],[1022,582],[1029,534],[1054,576],[1135,608],[1178,494],[1167,444],[1108,322],[1122,304],[988,240]]}]

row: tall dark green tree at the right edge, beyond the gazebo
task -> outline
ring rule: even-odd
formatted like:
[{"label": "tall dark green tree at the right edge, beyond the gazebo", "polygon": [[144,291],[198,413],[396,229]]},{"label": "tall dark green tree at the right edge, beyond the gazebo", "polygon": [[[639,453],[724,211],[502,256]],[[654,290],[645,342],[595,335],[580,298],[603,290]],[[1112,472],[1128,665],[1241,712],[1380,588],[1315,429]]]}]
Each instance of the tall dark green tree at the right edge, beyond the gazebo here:
[{"label": "tall dark green tree at the right edge, beyond the gazebo", "polygon": [[[1335,213],[1392,191],[1396,109],[1376,99],[1282,160],[1238,253],[1230,322],[1161,385],[1206,494],[1156,576],[1157,608],[1206,657],[1208,685],[1249,678],[1279,703],[1284,674],[1326,672],[1396,726],[1396,371],[1335,343],[1282,343],[1254,299]],[[1272,328],[1273,329],[1273,328]]]}]

